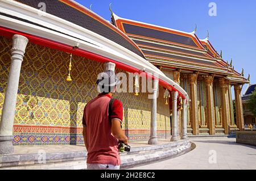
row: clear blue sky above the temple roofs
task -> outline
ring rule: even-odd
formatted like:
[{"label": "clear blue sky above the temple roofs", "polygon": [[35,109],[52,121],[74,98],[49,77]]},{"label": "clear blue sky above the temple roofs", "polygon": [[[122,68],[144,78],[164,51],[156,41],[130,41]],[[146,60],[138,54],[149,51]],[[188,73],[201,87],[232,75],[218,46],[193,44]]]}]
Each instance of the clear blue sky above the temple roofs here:
[{"label": "clear blue sky above the temple roofs", "polygon": [[[122,18],[192,32],[197,24],[197,36],[204,39],[209,31],[213,47],[222,50],[225,60],[233,58],[234,68],[245,77],[250,73],[256,83],[256,1],[234,0],[76,0],[106,20],[112,10]],[[209,16],[210,2],[217,5],[217,16]],[[246,86],[243,86],[244,88]]]}]

